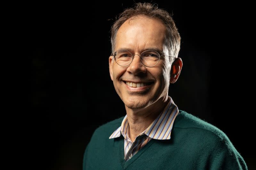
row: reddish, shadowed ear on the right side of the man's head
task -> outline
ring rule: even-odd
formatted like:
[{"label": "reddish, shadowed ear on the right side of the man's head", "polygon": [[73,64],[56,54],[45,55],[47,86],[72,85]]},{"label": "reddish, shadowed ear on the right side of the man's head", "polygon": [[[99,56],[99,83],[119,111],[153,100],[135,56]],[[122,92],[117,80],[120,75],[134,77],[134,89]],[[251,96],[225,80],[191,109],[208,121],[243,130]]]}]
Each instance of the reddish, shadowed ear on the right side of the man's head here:
[{"label": "reddish, shadowed ear on the right side of the man's head", "polygon": [[172,63],[172,69],[171,69],[171,77],[170,77],[170,83],[175,83],[180,75],[180,71],[182,68],[182,60],[180,57],[176,58]]}]

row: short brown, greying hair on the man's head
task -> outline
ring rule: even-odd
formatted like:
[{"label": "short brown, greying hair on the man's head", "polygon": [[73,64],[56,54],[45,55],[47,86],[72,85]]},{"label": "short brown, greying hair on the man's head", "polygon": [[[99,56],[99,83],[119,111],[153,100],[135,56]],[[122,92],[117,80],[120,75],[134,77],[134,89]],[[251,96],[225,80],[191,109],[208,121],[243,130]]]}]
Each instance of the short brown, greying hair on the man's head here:
[{"label": "short brown, greying hair on the man's head", "polygon": [[157,4],[150,3],[137,3],[133,8],[125,9],[114,22],[111,27],[111,45],[112,53],[114,53],[114,47],[116,43],[116,34],[118,29],[124,22],[134,16],[144,15],[149,18],[158,18],[166,26],[166,34],[164,39],[164,45],[167,47],[167,55],[178,57],[180,51],[180,34],[172,19],[172,16],[163,9],[158,9]]}]

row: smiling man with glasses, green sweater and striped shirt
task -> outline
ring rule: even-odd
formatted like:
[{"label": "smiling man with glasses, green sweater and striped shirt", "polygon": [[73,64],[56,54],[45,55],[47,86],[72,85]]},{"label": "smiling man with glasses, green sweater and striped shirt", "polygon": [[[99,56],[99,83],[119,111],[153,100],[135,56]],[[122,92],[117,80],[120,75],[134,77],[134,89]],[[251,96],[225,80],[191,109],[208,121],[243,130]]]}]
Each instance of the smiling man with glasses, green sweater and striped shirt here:
[{"label": "smiling man with glasses, green sweater and striped shirt", "polygon": [[83,169],[247,169],[222,131],[168,96],[182,68],[169,13],[138,3],[111,31],[109,73],[126,115],[96,129]]}]

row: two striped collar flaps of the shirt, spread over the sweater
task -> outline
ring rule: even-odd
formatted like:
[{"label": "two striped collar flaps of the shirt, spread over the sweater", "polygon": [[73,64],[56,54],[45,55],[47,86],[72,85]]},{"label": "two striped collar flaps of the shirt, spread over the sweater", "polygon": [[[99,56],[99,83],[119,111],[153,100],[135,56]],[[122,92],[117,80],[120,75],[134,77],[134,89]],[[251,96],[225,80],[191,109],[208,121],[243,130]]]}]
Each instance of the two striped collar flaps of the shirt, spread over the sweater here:
[{"label": "two striped collar flaps of the shirt, spread over the sweater", "polygon": [[[179,109],[173,102],[172,98],[168,96],[169,103],[164,108],[163,112],[159,114],[156,119],[148,126],[148,128],[141,134],[145,134],[153,139],[170,139],[173,122],[176,116],[179,114]],[[127,115],[125,115],[122,124],[118,127],[109,137],[109,139],[124,136],[125,139],[129,135],[129,123]]]}]

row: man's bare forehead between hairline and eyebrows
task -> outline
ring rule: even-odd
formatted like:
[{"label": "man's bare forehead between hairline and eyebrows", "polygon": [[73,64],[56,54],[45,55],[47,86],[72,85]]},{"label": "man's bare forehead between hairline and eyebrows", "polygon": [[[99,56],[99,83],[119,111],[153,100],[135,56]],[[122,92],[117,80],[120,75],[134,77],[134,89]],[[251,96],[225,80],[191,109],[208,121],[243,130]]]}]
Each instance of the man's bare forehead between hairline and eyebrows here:
[{"label": "man's bare forehead between hairline and eyebrows", "polygon": [[115,49],[163,49],[166,26],[158,18],[136,16],[124,22],[116,34]]}]

